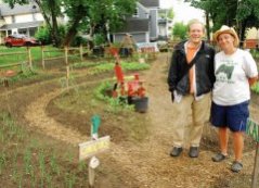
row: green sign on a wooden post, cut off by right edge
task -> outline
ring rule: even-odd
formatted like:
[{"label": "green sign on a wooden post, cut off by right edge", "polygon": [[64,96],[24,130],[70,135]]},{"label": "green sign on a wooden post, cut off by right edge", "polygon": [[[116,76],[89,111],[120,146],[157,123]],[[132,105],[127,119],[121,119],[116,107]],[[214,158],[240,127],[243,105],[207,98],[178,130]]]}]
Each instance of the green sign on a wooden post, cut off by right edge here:
[{"label": "green sign on a wooden post, cut off by right edge", "polygon": [[258,188],[258,175],[259,175],[259,124],[248,118],[246,125],[246,134],[254,138],[257,142],[257,150],[255,156],[255,166],[252,173],[251,188]]}]

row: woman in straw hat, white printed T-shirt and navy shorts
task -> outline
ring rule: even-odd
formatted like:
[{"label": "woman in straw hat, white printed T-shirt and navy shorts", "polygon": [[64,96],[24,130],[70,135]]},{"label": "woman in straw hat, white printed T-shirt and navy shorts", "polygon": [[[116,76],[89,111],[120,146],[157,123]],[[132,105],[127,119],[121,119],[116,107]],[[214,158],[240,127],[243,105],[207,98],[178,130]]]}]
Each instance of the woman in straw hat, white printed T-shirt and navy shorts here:
[{"label": "woman in straw hat, white printed T-shirt and navy shorts", "polygon": [[249,115],[249,86],[258,79],[255,60],[248,51],[238,49],[235,30],[223,25],[213,35],[221,51],[215,57],[216,83],[212,90],[211,123],[219,128],[220,153],[212,161],[221,162],[228,158],[228,128],[233,133],[233,172],[242,167],[244,131]]}]

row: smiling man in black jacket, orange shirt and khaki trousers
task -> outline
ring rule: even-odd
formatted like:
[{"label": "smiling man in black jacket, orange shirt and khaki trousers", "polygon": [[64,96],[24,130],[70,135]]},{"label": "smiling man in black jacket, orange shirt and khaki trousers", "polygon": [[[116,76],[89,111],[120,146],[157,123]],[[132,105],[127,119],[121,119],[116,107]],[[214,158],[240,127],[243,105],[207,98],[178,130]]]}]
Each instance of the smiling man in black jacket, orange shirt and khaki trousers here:
[{"label": "smiling man in black jacket, orange shirt and khaki trousers", "polygon": [[197,158],[204,123],[210,108],[210,91],[215,82],[215,50],[202,40],[205,27],[198,20],[187,25],[189,39],[178,43],[171,58],[168,74],[169,91],[177,110],[173,125],[171,156],[179,156],[184,146],[186,111],[192,110],[190,126],[190,158]]}]

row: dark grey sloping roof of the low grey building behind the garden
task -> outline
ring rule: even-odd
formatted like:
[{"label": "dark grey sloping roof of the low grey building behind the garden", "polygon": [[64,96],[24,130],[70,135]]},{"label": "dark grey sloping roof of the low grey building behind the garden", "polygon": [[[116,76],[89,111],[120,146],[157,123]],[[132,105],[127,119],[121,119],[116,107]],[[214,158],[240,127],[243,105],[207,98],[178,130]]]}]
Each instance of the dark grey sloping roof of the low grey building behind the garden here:
[{"label": "dark grey sloping roof of the low grey building behind the garden", "polygon": [[116,33],[148,32],[148,18],[130,18],[126,21],[125,27]]}]

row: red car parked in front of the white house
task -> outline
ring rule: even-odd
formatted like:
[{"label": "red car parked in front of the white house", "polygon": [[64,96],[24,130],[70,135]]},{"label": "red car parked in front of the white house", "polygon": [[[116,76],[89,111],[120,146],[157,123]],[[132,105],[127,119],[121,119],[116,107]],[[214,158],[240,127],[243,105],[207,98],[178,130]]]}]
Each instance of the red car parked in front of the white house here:
[{"label": "red car parked in front of the white house", "polygon": [[7,47],[30,47],[38,46],[40,41],[33,37],[27,37],[26,35],[10,35],[4,38],[4,45]]}]

